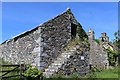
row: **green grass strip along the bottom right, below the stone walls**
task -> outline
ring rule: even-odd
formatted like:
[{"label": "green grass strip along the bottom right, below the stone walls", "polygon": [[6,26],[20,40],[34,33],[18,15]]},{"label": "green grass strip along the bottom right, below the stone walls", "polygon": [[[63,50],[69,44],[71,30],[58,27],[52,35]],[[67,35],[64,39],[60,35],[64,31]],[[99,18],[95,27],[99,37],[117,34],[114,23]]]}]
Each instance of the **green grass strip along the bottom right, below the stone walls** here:
[{"label": "green grass strip along the bottom right, below the stone walls", "polygon": [[118,68],[113,68],[113,69],[106,69],[106,70],[102,70],[102,71],[96,71],[96,72],[90,72],[85,76],[81,76],[80,74],[77,73],[73,73],[71,75],[63,75],[63,74],[54,74],[53,76],[51,76],[51,80],[54,80],[54,78],[56,80],[60,80],[61,78],[118,78]]}]

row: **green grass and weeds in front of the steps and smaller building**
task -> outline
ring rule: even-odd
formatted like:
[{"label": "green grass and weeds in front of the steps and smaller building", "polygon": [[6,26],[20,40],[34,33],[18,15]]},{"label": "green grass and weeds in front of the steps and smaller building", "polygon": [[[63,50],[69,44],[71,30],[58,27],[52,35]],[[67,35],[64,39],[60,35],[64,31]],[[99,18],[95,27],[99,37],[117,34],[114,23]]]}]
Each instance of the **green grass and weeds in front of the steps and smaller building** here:
[{"label": "green grass and weeds in front of the steps and smaller building", "polygon": [[[93,67],[91,71],[84,75],[81,76],[78,73],[73,73],[70,75],[64,75],[62,73],[59,74],[54,74],[50,77],[50,80],[117,80],[118,79],[118,67],[114,67],[113,69],[105,69],[105,70],[100,70],[97,69],[96,67]],[[48,78],[49,80],[49,78]]]}]

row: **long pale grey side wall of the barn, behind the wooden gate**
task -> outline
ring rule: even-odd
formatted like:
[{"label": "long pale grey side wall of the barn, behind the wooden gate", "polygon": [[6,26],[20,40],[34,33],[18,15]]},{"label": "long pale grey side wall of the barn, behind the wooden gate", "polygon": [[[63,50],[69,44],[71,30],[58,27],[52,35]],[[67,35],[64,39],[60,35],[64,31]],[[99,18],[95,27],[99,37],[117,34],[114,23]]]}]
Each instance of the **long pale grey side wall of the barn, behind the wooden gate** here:
[{"label": "long pale grey side wall of the barn, behind the wooden gate", "polygon": [[2,43],[2,56],[13,64],[21,61],[26,64],[40,65],[40,30],[35,28]]}]

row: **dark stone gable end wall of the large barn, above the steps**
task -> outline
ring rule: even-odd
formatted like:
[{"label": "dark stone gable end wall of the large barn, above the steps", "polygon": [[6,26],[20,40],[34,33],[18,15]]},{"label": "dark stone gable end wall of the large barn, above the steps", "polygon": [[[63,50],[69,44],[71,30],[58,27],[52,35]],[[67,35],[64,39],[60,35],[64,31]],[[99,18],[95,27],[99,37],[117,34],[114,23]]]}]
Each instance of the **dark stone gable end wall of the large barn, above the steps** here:
[{"label": "dark stone gable end wall of the large barn, above the steps", "polygon": [[41,69],[47,68],[64,51],[71,39],[71,23],[77,25],[73,14],[67,11],[41,26]]}]

